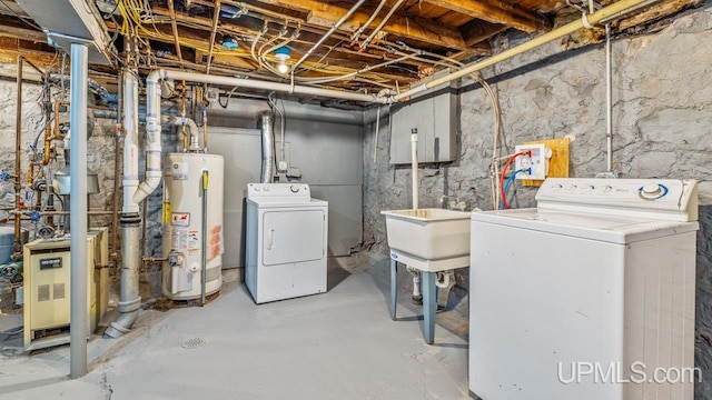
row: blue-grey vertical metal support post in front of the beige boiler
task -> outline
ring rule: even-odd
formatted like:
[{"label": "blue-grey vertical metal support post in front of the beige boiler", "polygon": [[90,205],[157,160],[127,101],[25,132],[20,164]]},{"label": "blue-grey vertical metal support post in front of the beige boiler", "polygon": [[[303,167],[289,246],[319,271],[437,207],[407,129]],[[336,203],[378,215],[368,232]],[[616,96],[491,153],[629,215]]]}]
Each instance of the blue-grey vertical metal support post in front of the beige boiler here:
[{"label": "blue-grey vertical metal support post in front of the beige boiler", "polygon": [[71,124],[70,150],[72,160],[69,166],[71,176],[71,199],[69,217],[73,228],[70,239],[70,372],[80,378],[87,374],[87,80],[88,50],[86,44],[71,46]]}]

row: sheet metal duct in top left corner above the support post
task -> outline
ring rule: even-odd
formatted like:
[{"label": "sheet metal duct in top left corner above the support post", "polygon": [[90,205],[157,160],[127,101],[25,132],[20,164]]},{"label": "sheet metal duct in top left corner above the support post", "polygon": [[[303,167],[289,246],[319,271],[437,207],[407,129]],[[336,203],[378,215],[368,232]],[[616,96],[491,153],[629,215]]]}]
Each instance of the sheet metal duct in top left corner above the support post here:
[{"label": "sheet metal duct in top left corner above the support post", "polygon": [[[89,63],[110,64],[113,43],[93,1],[18,0],[18,4],[47,33],[50,44],[69,52],[72,43],[86,44]],[[115,50],[116,51],[116,50]]]}]

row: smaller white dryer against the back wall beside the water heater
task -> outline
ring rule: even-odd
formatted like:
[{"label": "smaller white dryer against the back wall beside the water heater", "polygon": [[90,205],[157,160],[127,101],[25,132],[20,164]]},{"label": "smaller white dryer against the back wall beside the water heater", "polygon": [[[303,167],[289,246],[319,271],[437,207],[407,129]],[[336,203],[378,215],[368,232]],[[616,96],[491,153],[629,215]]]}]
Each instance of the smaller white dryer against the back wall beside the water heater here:
[{"label": "smaller white dryer against the back wall beside the water heater", "polygon": [[328,202],[308,184],[249,183],[245,282],[256,303],[326,292]]}]

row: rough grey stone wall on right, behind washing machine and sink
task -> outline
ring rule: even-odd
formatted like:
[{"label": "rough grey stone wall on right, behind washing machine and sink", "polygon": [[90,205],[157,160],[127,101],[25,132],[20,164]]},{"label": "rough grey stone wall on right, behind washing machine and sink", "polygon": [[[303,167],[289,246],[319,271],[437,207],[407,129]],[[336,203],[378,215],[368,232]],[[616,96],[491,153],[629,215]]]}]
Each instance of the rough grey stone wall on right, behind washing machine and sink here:
[{"label": "rough grey stone wall on right, behind washing machine and sink", "polygon": [[[504,39],[513,47],[527,38]],[[508,40],[510,42],[507,42]],[[679,16],[662,31],[613,43],[613,167],[622,178],[689,178],[700,181],[696,349],[702,369],[696,399],[712,398],[712,10]],[[562,52],[560,43],[521,54],[483,71],[500,97],[502,132],[514,144],[573,133],[571,176],[593,177],[606,169],[604,44]],[[462,82],[459,159],[419,169],[421,207],[439,207],[442,194],[491,210],[488,164],[492,103],[473,79]],[[389,127],[382,119],[374,163],[374,129],[364,143],[364,251],[387,279],[388,249],[380,210],[411,207],[409,166],[388,163]],[[534,206],[533,189],[517,189],[513,207]],[[405,278],[405,277],[404,277]],[[404,279],[405,280],[405,279]],[[467,270],[457,273],[451,304],[467,313]]]}]

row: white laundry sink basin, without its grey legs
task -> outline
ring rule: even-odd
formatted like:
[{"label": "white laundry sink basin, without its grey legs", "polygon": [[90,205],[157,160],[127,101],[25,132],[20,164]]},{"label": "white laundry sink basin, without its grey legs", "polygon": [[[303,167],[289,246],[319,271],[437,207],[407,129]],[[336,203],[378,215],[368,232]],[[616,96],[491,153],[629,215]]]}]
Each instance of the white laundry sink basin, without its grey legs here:
[{"label": "white laundry sink basin, without its grey legs", "polygon": [[469,257],[469,212],[432,208],[380,213],[386,216],[393,259],[394,250],[419,261]]}]

